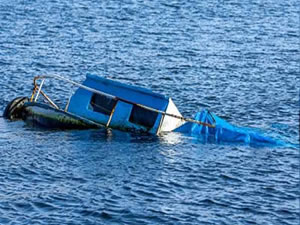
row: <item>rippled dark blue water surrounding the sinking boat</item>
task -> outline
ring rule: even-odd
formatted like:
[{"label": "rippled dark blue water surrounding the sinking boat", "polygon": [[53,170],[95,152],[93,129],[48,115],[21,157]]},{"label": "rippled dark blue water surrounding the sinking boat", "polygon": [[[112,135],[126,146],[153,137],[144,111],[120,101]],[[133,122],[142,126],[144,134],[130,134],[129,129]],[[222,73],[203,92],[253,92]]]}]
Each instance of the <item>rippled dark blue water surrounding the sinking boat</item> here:
[{"label": "rippled dark blue water surrounding the sinking boat", "polygon": [[[35,75],[89,72],[298,143],[299,26],[297,0],[1,0],[0,111]],[[299,224],[295,148],[0,130],[1,224]]]}]

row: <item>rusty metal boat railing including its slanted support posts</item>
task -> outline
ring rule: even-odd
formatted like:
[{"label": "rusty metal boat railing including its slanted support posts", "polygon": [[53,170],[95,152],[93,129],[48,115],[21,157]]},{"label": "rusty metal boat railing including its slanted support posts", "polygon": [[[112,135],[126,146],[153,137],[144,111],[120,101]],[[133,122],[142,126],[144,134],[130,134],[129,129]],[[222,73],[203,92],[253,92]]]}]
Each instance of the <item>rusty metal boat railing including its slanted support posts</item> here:
[{"label": "rusty metal boat railing including its slanted support posts", "polygon": [[[38,100],[39,95],[41,94],[41,95],[49,102],[50,105],[52,105],[52,106],[53,106],[54,108],[56,108],[56,109],[60,109],[60,108],[59,108],[59,107],[51,100],[51,98],[50,98],[48,95],[46,95],[44,91],[42,91],[42,87],[43,87],[43,85],[44,85],[45,79],[55,79],[55,80],[65,81],[66,83],[70,83],[70,84],[72,84],[72,85],[74,85],[74,86],[77,86],[77,87],[79,87],[79,88],[85,89],[85,90],[90,91],[90,92],[92,92],[92,93],[104,95],[104,96],[113,98],[113,99],[115,99],[116,101],[122,101],[122,102],[125,102],[125,103],[128,103],[128,104],[131,104],[131,105],[135,105],[135,106],[144,108],[144,109],[146,109],[146,110],[149,110],[149,111],[152,111],[152,112],[159,113],[159,114],[161,114],[162,116],[170,116],[170,117],[177,118],[177,119],[180,119],[180,120],[183,120],[183,121],[186,121],[186,122],[192,122],[192,123],[196,123],[196,124],[199,124],[199,125],[207,126],[207,127],[210,127],[210,128],[216,127],[216,121],[215,121],[213,115],[212,115],[210,112],[209,112],[209,114],[210,114],[210,116],[211,116],[211,118],[212,118],[212,120],[213,120],[213,124],[201,122],[201,121],[194,120],[194,119],[191,119],[191,118],[186,118],[186,117],[183,117],[183,116],[174,115],[174,114],[171,114],[171,113],[167,113],[167,112],[164,112],[164,111],[161,111],[161,110],[154,109],[154,108],[149,107],[149,106],[145,106],[145,105],[142,105],[142,104],[139,104],[139,103],[135,103],[135,102],[132,102],[132,101],[123,99],[123,98],[119,98],[119,97],[117,97],[117,96],[110,95],[110,94],[107,94],[107,93],[105,93],[105,92],[96,90],[96,89],[94,89],[94,88],[87,87],[87,86],[85,86],[85,85],[83,85],[83,84],[77,83],[77,82],[75,82],[75,81],[72,81],[72,80],[70,80],[70,79],[67,79],[67,78],[62,77],[62,76],[59,76],[59,75],[41,75],[41,76],[36,76],[36,77],[34,77],[34,79],[33,79],[33,85],[34,85],[34,87],[33,87],[32,95],[31,95],[31,98],[30,98],[30,101],[31,101],[31,102],[36,102],[36,101]],[[41,80],[40,85],[37,84],[37,80]],[[70,101],[70,99],[68,100],[68,102],[67,102],[67,104],[66,104],[66,106],[65,106],[64,111],[67,111],[67,110],[68,110],[69,101]],[[110,122],[110,120],[111,120],[111,116],[110,116],[109,122]]]}]

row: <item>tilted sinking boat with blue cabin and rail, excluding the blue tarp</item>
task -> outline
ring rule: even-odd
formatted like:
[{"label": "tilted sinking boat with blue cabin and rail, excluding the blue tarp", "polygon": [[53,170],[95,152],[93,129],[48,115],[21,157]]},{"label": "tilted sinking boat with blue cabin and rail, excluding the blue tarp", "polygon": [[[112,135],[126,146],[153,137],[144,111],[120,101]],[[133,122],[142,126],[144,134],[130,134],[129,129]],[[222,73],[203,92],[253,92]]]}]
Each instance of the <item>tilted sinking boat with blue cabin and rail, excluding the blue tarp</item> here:
[{"label": "tilted sinking boat with blue cabin and rail, excluding the blue tarp", "polygon": [[[46,79],[57,79],[78,87],[64,109],[42,90]],[[41,81],[39,85],[38,80]],[[48,104],[38,102],[41,95]],[[49,128],[106,127],[151,134],[173,131],[186,121],[214,126],[184,118],[172,99],[162,94],[91,74],[82,84],[57,75],[37,76],[30,99],[20,97],[11,101],[4,117]]]}]

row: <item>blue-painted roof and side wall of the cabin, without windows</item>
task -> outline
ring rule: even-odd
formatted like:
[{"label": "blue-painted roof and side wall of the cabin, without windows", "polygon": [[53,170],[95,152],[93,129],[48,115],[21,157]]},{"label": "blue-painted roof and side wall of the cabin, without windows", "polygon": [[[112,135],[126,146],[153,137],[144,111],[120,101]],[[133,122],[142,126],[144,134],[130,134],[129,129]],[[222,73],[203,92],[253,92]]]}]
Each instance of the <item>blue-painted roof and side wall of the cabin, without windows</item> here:
[{"label": "blue-painted roof and side wall of the cabin, without windows", "polygon": [[[156,134],[160,125],[162,115],[158,115],[152,127],[145,127],[134,122],[130,122],[129,118],[133,105],[124,102],[126,100],[132,103],[142,104],[157,110],[165,111],[169,99],[164,95],[157,94],[151,90],[113,81],[96,75],[87,75],[83,85],[101,91],[105,94],[116,96],[120,100],[117,101],[115,111],[113,113],[109,127],[121,130],[135,130]],[[90,102],[93,93],[85,89],[79,88],[70,99],[68,112],[84,117],[94,122],[106,125],[109,121],[109,114],[93,111]],[[99,103],[100,104],[100,103]],[[145,120],[148,119],[145,117]]]}]

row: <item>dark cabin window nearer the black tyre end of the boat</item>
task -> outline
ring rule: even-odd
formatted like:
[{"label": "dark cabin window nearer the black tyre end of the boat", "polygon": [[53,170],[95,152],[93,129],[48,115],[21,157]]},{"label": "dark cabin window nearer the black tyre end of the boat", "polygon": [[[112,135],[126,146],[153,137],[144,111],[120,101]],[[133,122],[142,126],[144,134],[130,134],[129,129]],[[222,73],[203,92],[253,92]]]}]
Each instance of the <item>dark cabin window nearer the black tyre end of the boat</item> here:
[{"label": "dark cabin window nearer the black tyre end of the boat", "polygon": [[94,93],[90,102],[90,108],[94,112],[110,115],[116,104],[117,100],[114,98]]}]

